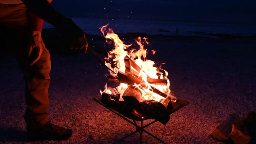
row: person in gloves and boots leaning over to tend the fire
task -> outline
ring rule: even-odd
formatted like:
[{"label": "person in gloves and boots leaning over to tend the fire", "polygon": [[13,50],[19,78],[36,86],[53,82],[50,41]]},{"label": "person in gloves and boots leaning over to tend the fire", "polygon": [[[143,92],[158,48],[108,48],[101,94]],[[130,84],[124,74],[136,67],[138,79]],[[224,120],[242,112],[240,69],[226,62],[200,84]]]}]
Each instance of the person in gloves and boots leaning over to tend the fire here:
[{"label": "person in gloves and boots leaning over to tend the fire", "polygon": [[[7,44],[14,48],[24,74],[26,136],[28,140],[67,140],[71,129],[52,124],[48,118],[50,53],[41,37],[44,21],[52,24],[68,40],[71,49],[87,52],[84,32],[51,6],[52,0],[0,0],[0,26],[7,33]],[[1,33],[1,32],[0,32]]]}]

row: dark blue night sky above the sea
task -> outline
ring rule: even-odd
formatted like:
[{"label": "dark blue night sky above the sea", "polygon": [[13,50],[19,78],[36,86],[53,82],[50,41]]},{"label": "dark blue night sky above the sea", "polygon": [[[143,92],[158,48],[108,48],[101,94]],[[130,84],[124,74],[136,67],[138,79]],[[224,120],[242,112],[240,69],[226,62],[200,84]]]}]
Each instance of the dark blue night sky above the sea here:
[{"label": "dark blue night sky above the sea", "polygon": [[53,0],[67,17],[256,24],[256,0]]}]

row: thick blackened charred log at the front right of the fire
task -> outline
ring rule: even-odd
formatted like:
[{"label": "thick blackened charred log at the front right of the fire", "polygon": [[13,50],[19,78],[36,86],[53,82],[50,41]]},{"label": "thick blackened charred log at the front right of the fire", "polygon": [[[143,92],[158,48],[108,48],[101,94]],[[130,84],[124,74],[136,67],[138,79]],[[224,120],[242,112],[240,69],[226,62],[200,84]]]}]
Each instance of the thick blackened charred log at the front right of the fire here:
[{"label": "thick blackened charred log at the front right of the fire", "polygon": [[155,100],[143,100],[134,106],[137,113],[166,124],[170,115],[165,106]]}]

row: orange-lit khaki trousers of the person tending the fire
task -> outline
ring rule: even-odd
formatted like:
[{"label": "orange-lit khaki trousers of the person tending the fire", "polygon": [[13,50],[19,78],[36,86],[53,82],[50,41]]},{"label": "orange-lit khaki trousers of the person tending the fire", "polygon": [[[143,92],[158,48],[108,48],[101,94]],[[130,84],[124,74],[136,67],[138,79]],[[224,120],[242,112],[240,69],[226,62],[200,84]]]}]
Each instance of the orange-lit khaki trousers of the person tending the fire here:
[{"label": "orange-lit khaki trousers of the person tending the fire", "polygon": [[28,63],[28,14],[24,4],[0,4],[0,24],[4,27],[4,30],[0,29],[0,35],[4,35],[3,42],[7,43],[8,48],[14,48],[16,59],[24,73],[27,126],[40,127],[48,122],[51,61],[50,53],[43,44],[40,59],[32,66]]}]

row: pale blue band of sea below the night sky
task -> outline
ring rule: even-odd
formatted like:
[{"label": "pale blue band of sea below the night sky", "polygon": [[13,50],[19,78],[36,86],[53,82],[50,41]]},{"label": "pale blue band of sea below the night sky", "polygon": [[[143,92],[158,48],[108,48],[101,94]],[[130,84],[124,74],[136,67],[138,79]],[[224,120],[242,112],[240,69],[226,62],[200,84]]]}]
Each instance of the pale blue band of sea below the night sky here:
[{"label": "pale blue band of sea below the night sky", "polygon": [[[114,33],[145,33],[162,35],[197,35],[197,36],[255,36],[254,25],[228,24],[228,23],[200,23],[200,22],[174,22],[174,21],[146,21],[122,20],[106,18],[72,18],[73,21],[87,34],[101,35],[99,27],[109,24]],[[45,23],[44,28],[53,28]],[[178,31],[177,31],[178,30]],[[221,35],[220,35],[221,34]]]}]

